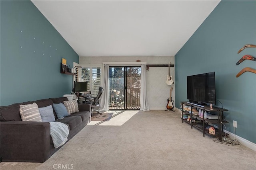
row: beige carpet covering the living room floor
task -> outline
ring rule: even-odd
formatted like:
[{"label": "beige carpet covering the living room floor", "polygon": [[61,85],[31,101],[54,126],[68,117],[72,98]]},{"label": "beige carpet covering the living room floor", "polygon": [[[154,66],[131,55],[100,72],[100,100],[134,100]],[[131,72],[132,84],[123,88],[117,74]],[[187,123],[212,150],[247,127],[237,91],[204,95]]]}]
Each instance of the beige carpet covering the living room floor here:
[{"label": "beige carpet covering the living room floor", "polygon": [[182,123],[178,112],[124,111],[91,122],[44,163],[1,162],[1,170],[256,169],[256,152],[213,140]]}]

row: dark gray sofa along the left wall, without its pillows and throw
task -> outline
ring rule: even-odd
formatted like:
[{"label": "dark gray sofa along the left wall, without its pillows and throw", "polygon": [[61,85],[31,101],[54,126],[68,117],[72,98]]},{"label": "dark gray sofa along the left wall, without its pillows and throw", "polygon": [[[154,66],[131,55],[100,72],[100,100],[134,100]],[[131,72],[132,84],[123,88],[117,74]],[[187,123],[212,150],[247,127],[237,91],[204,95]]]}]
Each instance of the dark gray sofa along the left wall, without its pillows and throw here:
[{"label": "dark gray sofa along the left wall, without its pillows and throw", "polygon": [[[42,99],[33,102],[1,106],[0,136],[1,158],[4,162],[45,162],[58,149],[54,148],[50,136],[49,122],[22,121],[20,104],[36,103],[38,107],[64,103],[66,97]],[[91,105],[78,104],[79,111],[57,120],[69,127],[68,141],[83,129],[91,119]]]}]

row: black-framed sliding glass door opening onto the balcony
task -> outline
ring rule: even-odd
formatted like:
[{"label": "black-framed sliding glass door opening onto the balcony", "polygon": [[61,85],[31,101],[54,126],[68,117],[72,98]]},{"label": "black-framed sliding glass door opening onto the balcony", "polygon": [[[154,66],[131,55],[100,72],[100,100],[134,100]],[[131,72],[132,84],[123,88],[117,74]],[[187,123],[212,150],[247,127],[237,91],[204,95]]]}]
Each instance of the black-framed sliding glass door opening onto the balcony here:
[{"label": "black-framed sliding glass door opening onto the balcony", "polygon": [[110,110],[140,109],[140,66],[110,66]]}]

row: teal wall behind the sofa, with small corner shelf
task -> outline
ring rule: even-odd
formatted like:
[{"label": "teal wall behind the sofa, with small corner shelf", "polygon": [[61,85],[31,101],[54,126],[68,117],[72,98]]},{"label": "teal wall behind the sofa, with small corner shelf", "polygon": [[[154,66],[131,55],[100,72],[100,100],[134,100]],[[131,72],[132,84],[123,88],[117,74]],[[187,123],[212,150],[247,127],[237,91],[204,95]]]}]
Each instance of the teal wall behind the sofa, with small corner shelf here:
[{"label": "teal wall behind the sofa, with small corner shelf", "polygon": [[0,5],[0,105],[69,94],[73,77],[60,74],[60,63],[78,63],[76,52],[31,1]]}]

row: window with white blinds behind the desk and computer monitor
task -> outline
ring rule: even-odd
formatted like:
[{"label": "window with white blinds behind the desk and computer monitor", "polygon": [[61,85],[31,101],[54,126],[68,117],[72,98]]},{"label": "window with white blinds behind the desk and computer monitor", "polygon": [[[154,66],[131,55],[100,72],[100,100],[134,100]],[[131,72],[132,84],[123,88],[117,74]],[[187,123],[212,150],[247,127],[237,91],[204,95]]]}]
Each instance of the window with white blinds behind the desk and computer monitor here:
[{"label": "window with white blinds behind the desk and computer monitor", "polygon": [[101,85],[101,67],[77,68],[76,81],[87,82],[88,91],[92,96],[97,96]]}]

